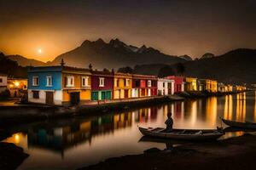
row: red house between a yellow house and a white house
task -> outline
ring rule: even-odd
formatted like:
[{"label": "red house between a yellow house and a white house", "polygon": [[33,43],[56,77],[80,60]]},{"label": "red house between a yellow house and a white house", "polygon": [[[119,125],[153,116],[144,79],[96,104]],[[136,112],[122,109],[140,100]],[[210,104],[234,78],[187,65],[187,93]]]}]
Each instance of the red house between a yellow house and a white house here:
[{"label": "red house between a yellow house and a white house", "polygon": [[131,97],[149,97],[157,95],[157,77],[146,75],[132,76]]}]

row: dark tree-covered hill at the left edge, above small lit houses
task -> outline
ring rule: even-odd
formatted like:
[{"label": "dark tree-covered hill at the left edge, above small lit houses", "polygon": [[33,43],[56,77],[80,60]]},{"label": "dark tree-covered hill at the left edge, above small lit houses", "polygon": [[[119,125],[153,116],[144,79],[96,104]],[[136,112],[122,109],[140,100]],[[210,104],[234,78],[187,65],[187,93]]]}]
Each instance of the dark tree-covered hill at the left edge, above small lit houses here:
[{"label": "dark tree-covered hill at the left edge, above small lit houses", "polygon": [[26,77],[26,67],[18,65],[0,52],[0,73],[5,73],[9,77]]}]

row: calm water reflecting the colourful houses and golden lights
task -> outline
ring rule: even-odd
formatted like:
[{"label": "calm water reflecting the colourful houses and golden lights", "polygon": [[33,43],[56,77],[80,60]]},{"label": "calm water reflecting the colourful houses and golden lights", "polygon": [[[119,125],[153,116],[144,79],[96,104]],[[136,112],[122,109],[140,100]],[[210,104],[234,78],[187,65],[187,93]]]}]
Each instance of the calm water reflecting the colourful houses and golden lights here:
[{"label": "calm water reflecting the colourful houses and golden lights", "polygon": [[[172,111],[174,127],[215,128],[218,116],[236,121],[256,122],[255,92],[189,99],[167,105],[152,105],[134,111],[109,113],[90,119],[76,118],[13,127],[15,133],[4,141],[21,146],[30,156],[19,169],[75,169],[113,156],[143,153],[166,144],[139,142],[137,125],[164,127]],[[224,138],[241,135],[226,133]]]}]

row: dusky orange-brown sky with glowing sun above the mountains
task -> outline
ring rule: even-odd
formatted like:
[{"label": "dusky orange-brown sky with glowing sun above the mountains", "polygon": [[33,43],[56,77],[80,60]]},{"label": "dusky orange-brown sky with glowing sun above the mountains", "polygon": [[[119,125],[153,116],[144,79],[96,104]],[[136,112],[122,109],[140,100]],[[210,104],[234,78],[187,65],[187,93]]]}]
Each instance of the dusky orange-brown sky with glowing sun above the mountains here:
[{"label": "dusky orange-brown sky with glowing sun above the mountains", "polygon": [[254,0],[0,0],[0,51],[55,59],[112,38],[192,58],[256,48]]}]

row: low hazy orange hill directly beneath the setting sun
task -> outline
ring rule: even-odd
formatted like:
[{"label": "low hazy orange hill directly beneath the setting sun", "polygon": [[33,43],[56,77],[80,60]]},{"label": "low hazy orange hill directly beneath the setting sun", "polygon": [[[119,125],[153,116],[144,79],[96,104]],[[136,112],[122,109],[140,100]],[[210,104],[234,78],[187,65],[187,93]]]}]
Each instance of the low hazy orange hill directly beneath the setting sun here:
[{"label": "low hazy orange hill directly beneath the setting sun", "polygon": [[17,61],[17,63],[20,65],[20,66],[29,66],[29,65],[32,65],[32,66],[44,66],[44,65],[47,65],[46,63],[42,62],[42,61],[39,61],[37,59],[27,59],[21,55],[7,55],[7,57],[9,59],[12,59],[14,61]]}]

